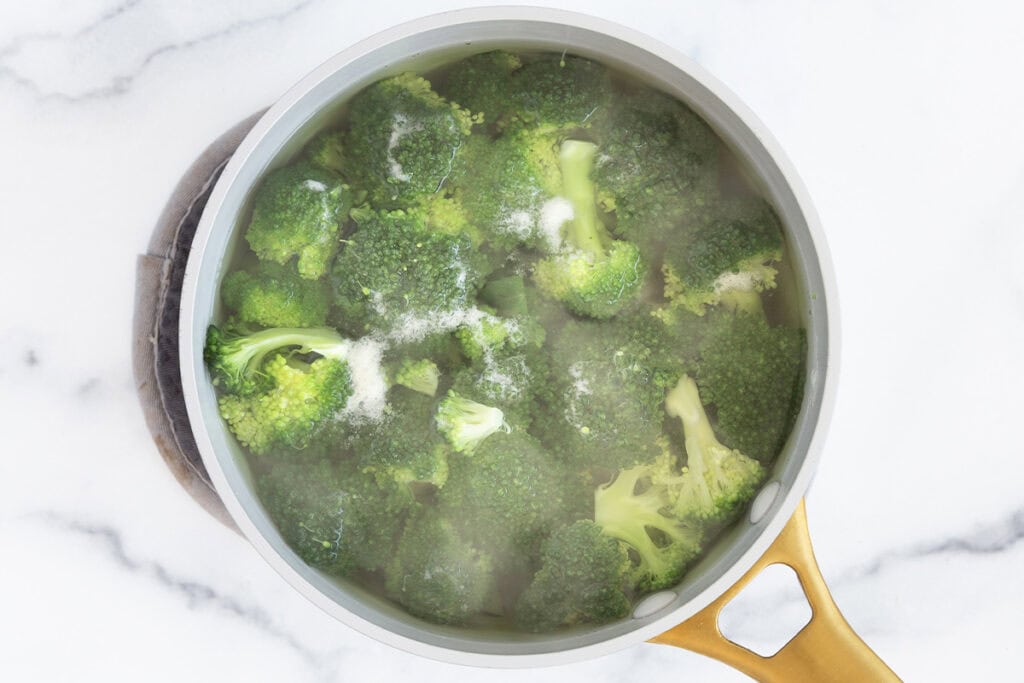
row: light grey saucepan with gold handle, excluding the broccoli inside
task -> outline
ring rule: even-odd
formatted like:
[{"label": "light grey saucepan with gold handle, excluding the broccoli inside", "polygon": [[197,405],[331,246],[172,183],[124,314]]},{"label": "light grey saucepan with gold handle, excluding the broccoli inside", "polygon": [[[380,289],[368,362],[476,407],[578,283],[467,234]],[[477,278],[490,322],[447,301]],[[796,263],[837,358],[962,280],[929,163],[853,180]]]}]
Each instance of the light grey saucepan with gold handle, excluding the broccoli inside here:
[{"label": "light grey saucepan with gold handle, excluding the broccoli inside", "polygon": [[[488,49],[546,50],[589,57],[686,102],[755,176],[785,226],[807,329],[803,403],[793,433],[749,514],[672,591],[647,598],[632,617],[597,628],[530,635],[427,624],[357,586],[309,568],[292,552],[254,494],[246,458],[217,414],[203,364],[218,312],[225,254],[241,239],[247,198],[346,98],[403,71],[427,71]],[[220,176],[200,223],[181,301],[181,376],[196,441],[238,526],[296,590],[340,622],[380,641],[436,659],[482,667],[536,667],[607,654],[644,641],[717,657],[765,681],[898,680],[856,636],[817,569],[803,505],[821,455],[836,393],[839,314],[821,226],[796,172],[753,113],[703,69],[651,38],[593,17],[529,7],[460,10],[403,24],[346,49],[309,74],[262,117]],[[727,640],[718,614],[762,568],[791,566],[812,618],[765,657]]]}]

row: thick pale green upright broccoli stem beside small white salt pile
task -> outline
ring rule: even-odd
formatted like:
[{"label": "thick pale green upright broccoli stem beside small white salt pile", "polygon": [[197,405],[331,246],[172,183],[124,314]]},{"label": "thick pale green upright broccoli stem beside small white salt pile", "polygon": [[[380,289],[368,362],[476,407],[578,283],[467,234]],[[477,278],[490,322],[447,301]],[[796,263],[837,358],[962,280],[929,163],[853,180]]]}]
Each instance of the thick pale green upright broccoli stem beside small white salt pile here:
[{"label": "thick pale green upright broccoli stem beside small white salt pile", "polygon": [[568,241],[595,260],[605,257],[610,238],[597,216],[597,191],[591,172],[597,145],[582,140],[565,140],[558,154],[562,172],[562,191],[572,205],[572,223]]}]

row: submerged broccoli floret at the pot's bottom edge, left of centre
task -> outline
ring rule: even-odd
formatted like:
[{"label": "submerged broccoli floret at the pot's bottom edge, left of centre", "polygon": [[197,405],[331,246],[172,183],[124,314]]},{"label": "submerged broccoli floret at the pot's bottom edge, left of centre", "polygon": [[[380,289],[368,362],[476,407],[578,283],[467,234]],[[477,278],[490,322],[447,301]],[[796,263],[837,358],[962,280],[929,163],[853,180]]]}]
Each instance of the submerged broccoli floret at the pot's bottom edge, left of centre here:
[{"label": "submerged broccoli floret at the pot's bottom edge, left of centre", "polygon": [[385,586],[411,614],[464,624],[488,604],[494,569],[490,556],[460,538],[449,519],[423,509],[406,525]]}]

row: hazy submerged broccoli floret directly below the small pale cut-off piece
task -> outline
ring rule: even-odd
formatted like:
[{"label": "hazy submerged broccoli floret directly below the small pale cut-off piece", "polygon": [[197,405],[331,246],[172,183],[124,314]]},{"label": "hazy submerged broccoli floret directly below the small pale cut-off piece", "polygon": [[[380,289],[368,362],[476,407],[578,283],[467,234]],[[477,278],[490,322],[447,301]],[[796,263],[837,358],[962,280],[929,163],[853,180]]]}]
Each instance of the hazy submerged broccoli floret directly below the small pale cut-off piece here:
[{"label": "hazy submerged broccoli floret directly below the small pale cut-off piece", "polygon": [[537,556],[577,505],[577,492],[536,438],[513,430],[488,436],[471,456],[453,456],[437,501],[468,540],[507,567]]}]

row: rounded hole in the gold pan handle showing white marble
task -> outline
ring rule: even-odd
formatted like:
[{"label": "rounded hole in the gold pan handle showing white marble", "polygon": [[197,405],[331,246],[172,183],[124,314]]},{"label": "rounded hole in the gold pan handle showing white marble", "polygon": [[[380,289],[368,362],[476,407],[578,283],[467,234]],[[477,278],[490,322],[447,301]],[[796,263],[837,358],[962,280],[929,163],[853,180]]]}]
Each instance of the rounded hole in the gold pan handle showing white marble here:
[{"label": "rounded hole in the gold pan handle showing white marble", "polygon": [[810,621],[811,605],[797,572],[770,564],[722,608],[718,628],[736,645],[770,657]]}]

